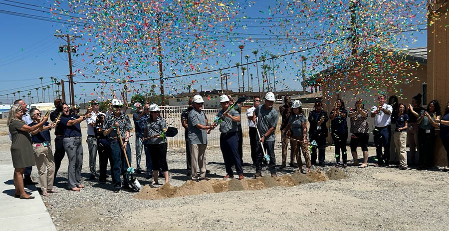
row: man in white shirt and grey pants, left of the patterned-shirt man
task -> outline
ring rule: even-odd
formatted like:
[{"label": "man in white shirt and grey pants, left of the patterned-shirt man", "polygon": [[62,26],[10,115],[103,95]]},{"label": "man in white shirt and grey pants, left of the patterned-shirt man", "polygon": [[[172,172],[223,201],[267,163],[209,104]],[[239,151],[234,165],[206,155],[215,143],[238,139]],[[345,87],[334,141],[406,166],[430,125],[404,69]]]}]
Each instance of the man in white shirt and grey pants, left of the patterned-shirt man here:
[{"label": "man in white shirt and grey pants, left of the patterned-shirt man", "polygon": [[92,111],[90,112],[91,117],[86,119],[87,123],[87,147],[89,148],[89,170],[90,170],[90,180],[95,179],[95,163],[97,160],[97,137],[95,136],[94,126],[97,120],[97,116],[105,115],[100,112],[100,103],[96,99],[90,101]]}]

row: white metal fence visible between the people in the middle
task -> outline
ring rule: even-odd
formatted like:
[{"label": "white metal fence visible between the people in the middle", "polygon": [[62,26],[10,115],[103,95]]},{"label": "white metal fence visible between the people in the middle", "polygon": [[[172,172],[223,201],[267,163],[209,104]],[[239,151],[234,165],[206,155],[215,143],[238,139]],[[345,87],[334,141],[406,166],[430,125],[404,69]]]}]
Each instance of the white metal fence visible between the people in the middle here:
[{"label": "white metal fence visible between the people in the middle", "polygon": [[[184,127],[181,124],[181,113],[187,108],[187,106],[163,106],[161,107],[162,117],[167,121],[167,125],[170,127],[178,128],[179,132],[175,137],[168,138],[168,149],[181,149],[185,148],[185,139],[184,139]],[[212,124],[215,116],[221,110],[221,108],[213,108],[213,109],[203,109],[208,117],[209,123]],[[309,112],[312,111],[312,108],[303,108],[304,114],[306,117],[309,116]],[[281,136],[279,127],[281,124],[281,117],[279,115],[279,119],[277,121],[276,128],[276,143],[280,145]],[[243,132],[243,144],[249,145],[249,136],[248,136],[248,119],[246,119],[246,109],[242,110],[241,116],[241,128]],[[208,147],[220,146],[220,131],[218,127],[211,131],[208,134]]]}]

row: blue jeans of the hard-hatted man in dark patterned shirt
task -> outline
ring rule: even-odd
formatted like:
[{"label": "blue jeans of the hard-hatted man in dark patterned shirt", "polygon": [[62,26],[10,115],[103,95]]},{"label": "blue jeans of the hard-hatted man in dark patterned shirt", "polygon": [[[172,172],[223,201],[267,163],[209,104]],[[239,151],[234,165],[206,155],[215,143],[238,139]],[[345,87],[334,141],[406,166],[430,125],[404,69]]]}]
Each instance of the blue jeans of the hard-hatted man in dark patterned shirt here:
[{"label": "blue jeans of the hard-hatted man in dark patterned shirt", "polygon": [[[128,164],[126,163],[125,153],[123,153],[122,148],[120,147],[120,141],[111,140],[111,151],[112,162],[114,164],[114,167],[112,168],[112,183],[114,184],[114,188],[120,188],[122,185],[120,174],[123,174],[124,185],[128,185],[128,179],[125,176]],[[129,164],[131,165],[131,147],[129,143],[126,144],[126,156],[128,156]]]}]

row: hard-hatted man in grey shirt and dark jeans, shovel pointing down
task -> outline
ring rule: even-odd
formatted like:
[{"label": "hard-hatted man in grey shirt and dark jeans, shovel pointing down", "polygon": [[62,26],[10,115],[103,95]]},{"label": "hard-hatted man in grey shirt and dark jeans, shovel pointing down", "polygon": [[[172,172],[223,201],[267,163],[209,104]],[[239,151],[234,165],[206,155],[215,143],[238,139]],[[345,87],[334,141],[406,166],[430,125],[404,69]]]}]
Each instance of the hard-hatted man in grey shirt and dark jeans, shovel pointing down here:
[{"label": "hard-hatted man in grey shirt and dark jeans, shovel pointing down", "polygon": [[[257,130],[260,134],[259,144],[257,145],[257,160],[256,160],[256,173],[254,178],[262,176],[262,159],[263,151],[266,150],[266,154],[270,157],[268,168],[271,173],[271,177],[276,176],[276,158],[274,156],[274,143],[276,140],[275,130],[277,126],[277,111],[273,108],[273,104],[276,101],[273,92],[265,94],[265,103],[258,106],[253,113],[252,121],[256,123]],[[262,145],[260,145],[263,144]]]}]

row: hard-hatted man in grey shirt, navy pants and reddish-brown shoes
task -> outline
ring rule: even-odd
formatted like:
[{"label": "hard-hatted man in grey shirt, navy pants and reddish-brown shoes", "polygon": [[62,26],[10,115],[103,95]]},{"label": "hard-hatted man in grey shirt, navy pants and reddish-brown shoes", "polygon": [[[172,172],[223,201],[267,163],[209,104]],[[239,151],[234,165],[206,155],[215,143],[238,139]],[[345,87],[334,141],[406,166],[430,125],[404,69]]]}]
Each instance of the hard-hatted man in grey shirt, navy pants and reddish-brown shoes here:
[{"label": "hard-hatted man in grey shirt, navy pants and reddish-brown shoes", "polygon": [[223,115],[223,122],[220,123],[220,149],[222,150],[223,159],[225,161],[226,176],[224,179],[234,177],[232,166],[235,166],[235,172],[238,179],[242,180],[243,169],[241,168],[240,154],[238,153],[238,135],[237,122],[240,121],[240,114],[235,109],[227,111],[231,105],[231,101],[227,95],[220,96],[220,105],[222,110],[219,114]]}]

